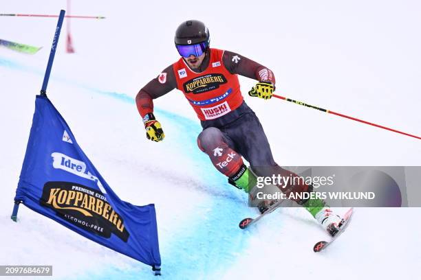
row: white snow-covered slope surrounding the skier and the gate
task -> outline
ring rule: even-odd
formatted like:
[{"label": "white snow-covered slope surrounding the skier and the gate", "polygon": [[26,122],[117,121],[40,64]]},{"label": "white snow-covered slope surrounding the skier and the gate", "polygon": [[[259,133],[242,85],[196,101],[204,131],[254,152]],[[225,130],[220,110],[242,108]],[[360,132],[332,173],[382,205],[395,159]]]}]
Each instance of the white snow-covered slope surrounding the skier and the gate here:
[{"label": "white snow-covered slope surrounding the skier and the gate", "polygon": [[[65,1],[3,1],[3,13],[58,14]],[[277,93],[421,135],[418,1],[72,1],[76,54],[59,42],[48,95],[122,200],[155,203],[162,279],[416,279],[421,210],[358,208],[340,242],[303,209],[280,209],[250,231],[246,194],[199,152],[200,131],[180,92],[156,100],[166,139],[153,143],[134,104],[177,60],[173,32],[204,21],[213,47],[270,67]],[[0,49],[0,264],[53,265],[54,279],[155,279],[149,266],[103,248],[24,206],[10,220],[56,19],[0,18],[0,38],[43,46]],[[253,80],[240,78],[246,93]],[[420,165],[420,141],[281,100],[245,97],[280,165]],[[338,209],[343,212],[345,209]],[[13,277],[12,279],[18,279]],[[39,277],[37,279],[42,279]],[[45,277],[51,279],[51,277]]]}]

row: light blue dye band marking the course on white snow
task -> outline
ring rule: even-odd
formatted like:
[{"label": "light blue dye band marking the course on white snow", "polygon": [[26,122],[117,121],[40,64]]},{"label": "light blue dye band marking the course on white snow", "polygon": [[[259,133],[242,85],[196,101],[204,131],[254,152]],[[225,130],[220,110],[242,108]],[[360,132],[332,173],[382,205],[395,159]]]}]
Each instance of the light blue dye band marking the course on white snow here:
[{"label": "light blue dye band marking the course on white snow", "polygon": [[[34,69],[17,62],[0,57],[0,66],[28,73],[43,75],[39,69]],[[87,84],[72,82],[65,78],[52,77],[52,80],[79,86],[85,90],[114,98],[120,102],[135,104],[134,98],[109,91],[101,91]],[[197,147],[196,137],[202,128],[196,121],[171,113],[167,110],[155,108],[160,118],[180,127],[180,145],[191,147],[188,156],[203,166],[202,174],[197,176],[206,189],[213,192],[206,205],[196,209],[197,213],[186,223],[173,229],[171,244],[160,244],[162,257],[162,277],[160,279],[217,279],[235,263],[235,260],[247,246],[248,232],[238,228],[241,218],[253,215],[255,211],[246,207],[246,194],[239,194],[239,190],[228,185],[226,178],[217,172],[210,163],[208,156]],[[195,147],[195,148],[193,148]],[[206,178],[206,181],[204,180]],[[212,183],[209,183],[212,182]],[[221,195],[222,194],[222,195]],[[205,194],[209,196],[209,194]],[[159,209],[158,209],[159,211]],[[159,226],[159,221],[158,221]],[[71,277],[74,279],[74,277]],[[109,268],[100,273],[87,272],[78,275],[78,279],[155,279],[149,268],[133,265],[129,270]]]}]

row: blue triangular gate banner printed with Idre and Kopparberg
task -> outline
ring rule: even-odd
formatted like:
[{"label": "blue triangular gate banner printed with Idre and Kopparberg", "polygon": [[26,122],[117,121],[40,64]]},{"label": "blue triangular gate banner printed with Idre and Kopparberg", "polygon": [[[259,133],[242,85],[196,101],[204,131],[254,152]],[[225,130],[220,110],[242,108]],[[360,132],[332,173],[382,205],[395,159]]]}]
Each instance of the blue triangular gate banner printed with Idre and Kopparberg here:
[{"label": "blue triangular gate banner printed with Idre and Kopparberg", "polygon": [[155,206],[120,200],[41,95],[15,200],[112,250],[150,266],[161,264]]}]

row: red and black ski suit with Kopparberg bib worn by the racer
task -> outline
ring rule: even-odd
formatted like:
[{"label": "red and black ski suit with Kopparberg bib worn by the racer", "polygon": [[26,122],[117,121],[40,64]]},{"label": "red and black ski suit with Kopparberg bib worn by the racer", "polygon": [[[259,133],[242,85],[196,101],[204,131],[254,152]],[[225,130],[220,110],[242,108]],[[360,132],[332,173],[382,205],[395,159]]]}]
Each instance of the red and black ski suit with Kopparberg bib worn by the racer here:
[{"label": "red and black ski suit with Kopparberg bib worn by the racer", "polygon": [[[296,176],[275,163],[260,121],[241,95],[237,74],[275,83],[272,71],[259,63],[231,51],[209,49],[199,69],[190,69],[180,58],[144,86],[136,96],[139,113],[142,117],[152,113],[152,100],[177,88],[202,124],[197,145],[219,172],[235,176],[244,156],[258,176]],[[294,191],[307,191],[307,185],[294,186]]]}]

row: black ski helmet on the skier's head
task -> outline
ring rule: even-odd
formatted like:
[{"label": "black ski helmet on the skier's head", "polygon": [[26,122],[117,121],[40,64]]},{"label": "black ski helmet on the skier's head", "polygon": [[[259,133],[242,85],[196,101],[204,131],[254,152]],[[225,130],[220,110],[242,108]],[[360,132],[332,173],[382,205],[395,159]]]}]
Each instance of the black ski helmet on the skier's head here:
[{"label": "black ski helmet on the skier's head", "polygon": [[208,27],[202,21],[184,21],[175,31],[175,45],[193,45],[206,42],[206,46],[208,46],[209,41]]}]

